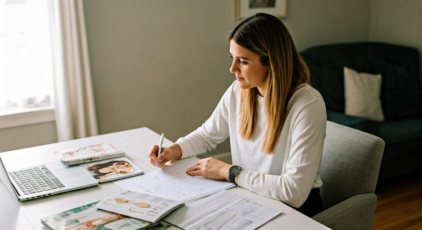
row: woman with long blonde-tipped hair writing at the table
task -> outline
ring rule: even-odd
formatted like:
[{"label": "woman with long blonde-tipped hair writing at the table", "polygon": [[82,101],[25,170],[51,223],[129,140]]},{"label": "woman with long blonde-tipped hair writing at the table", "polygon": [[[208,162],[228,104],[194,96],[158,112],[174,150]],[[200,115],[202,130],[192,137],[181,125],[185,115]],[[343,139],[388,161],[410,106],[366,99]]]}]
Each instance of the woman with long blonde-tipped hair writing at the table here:
[{"label": "woman with long blonde-tipped hair writing at the table", "polygon": [[[269,14],[242,19],[227,41],[236,81],[201,127],[163,148],[159,166],[211,151],[230,137],[234,165],[209,157],[187,174],[226,179],[307,216],[318,214],[326,112],[321,95],[308,85],[305,62],[287,28]],[[153,165],[157,152],[152,146]]]}]

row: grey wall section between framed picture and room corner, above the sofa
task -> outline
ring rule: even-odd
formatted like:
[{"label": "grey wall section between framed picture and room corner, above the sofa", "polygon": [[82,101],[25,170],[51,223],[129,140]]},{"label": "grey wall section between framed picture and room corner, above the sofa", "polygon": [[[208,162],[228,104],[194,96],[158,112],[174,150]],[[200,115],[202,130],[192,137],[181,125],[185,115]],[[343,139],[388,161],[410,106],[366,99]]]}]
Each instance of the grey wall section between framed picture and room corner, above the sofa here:
[{"label": "grey wall section between framed picture and room corner, above the sofa", "polygon": [[301,51],[310,46],[367,41],[371,1],[287,0],[281,19]]}]

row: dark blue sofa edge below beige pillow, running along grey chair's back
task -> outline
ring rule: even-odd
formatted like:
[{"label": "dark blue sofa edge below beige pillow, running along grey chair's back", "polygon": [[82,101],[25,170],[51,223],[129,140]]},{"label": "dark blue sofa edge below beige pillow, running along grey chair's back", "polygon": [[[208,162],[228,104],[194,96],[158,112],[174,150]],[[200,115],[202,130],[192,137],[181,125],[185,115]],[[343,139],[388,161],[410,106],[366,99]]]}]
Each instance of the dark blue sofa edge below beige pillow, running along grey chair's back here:
[{"label": "dark blue sofa edge below beige pillow, running along grey chair's back", "polygon": [[343,124],[372,135],[378,134],[378,122],[365,117],[342,114],[327,109],[327,121]]}]

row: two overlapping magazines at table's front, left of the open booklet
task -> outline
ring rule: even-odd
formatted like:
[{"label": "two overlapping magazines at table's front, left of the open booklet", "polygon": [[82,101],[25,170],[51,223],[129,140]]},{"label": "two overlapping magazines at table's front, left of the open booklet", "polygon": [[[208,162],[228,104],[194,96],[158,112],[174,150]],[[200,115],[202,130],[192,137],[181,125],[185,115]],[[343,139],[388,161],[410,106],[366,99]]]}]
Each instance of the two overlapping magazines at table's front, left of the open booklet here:
[{"label": "two overlapping magazines at table's front, left of the open booklet", "polygon": [[41,218],[51,230],[160,230],[160,221],[184,203],[138,192],[124,191],[103,200]]}]

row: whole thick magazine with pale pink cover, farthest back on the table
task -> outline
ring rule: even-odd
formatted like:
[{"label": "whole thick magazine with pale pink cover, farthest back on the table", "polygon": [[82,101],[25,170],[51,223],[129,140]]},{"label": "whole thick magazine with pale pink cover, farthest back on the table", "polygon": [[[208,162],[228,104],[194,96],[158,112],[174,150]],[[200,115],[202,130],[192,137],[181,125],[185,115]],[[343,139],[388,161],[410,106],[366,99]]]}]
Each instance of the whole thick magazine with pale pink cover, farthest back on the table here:
[{"label": "whole thick magazine with pale pink cover, farthest back on the table", "polygon": [[85,162],[104,160],[124,156],[124,152],[111,143],[82,146],[73,149],[63,149],[53,152],[54,157],[66,165],[76,165]]}]

